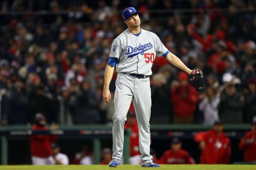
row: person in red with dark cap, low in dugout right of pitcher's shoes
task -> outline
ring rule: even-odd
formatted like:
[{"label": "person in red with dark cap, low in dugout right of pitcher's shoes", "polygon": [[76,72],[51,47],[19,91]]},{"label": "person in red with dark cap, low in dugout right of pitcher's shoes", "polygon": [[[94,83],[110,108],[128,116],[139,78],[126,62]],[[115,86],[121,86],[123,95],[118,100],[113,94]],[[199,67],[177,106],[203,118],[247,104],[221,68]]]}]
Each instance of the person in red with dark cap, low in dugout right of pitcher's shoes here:
[{"label": "person in red with dark cap, low in dugout right of pitcher's shoes", "polygon": [[179,138],[173,138],[171,149],[166,150],[160,158],[161,164],[195,164],[195,160],[190,154],[181,149],[181,141]]}]

